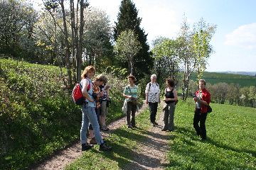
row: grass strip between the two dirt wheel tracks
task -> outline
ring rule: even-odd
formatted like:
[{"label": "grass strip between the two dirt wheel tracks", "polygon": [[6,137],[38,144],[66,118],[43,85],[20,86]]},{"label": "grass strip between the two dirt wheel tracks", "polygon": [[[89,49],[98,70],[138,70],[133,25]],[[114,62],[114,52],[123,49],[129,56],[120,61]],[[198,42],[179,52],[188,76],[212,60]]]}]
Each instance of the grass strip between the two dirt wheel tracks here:
[{"label": "grass strip between the two dirt wheel tracks", "polygon": [[[138,129],[131,130],[123,125],[107,138],[112,152],[99,152],[98,146],[83,152],[82,157],[75,160],[65,169],[122,169],[134,160],[134,149],[143,145],[149,135],[149,111],[146,109],[136,118]],[[111,127],[110,127],[111,128]]]}]

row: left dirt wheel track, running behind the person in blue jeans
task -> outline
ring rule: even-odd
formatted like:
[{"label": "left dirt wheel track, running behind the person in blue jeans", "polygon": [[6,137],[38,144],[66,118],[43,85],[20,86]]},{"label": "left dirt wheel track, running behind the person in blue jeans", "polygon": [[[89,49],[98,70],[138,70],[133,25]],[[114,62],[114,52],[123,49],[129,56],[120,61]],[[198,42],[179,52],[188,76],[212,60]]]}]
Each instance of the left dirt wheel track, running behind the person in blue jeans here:
[{"label": "left dirt wheel track, running behind the person in blue jeans", "polygon": [[[147,108],[147,106],[143,105],[142,108],[140,108],[139,113],[144,111],[145,108]],[[138,115],[139,113],[136,113],[136,114]],[[110,130],[108,132],[102,132],[102,136],[108,137],[110,133],[112,133],[117,128],[120,128],[125,123],[126,123],[125,117],[115,121],[114,123],[110,123],[110,125],[108,125],[110,127]],[[81,144],[80,144],[80,141],[78,141],[78,142],[75,142],[70,147],[67,147],[62,151],[56,153],[55,155],[53,155],[53,157],[50,157],[45,162],[39,164],[36,167],[33,167],[32,169],[36,169],[36,170],[64,169],[66,165],[70,164],[75,159],[78,159],[78,157],[81,157],[81,156],[82,156]]]}]

